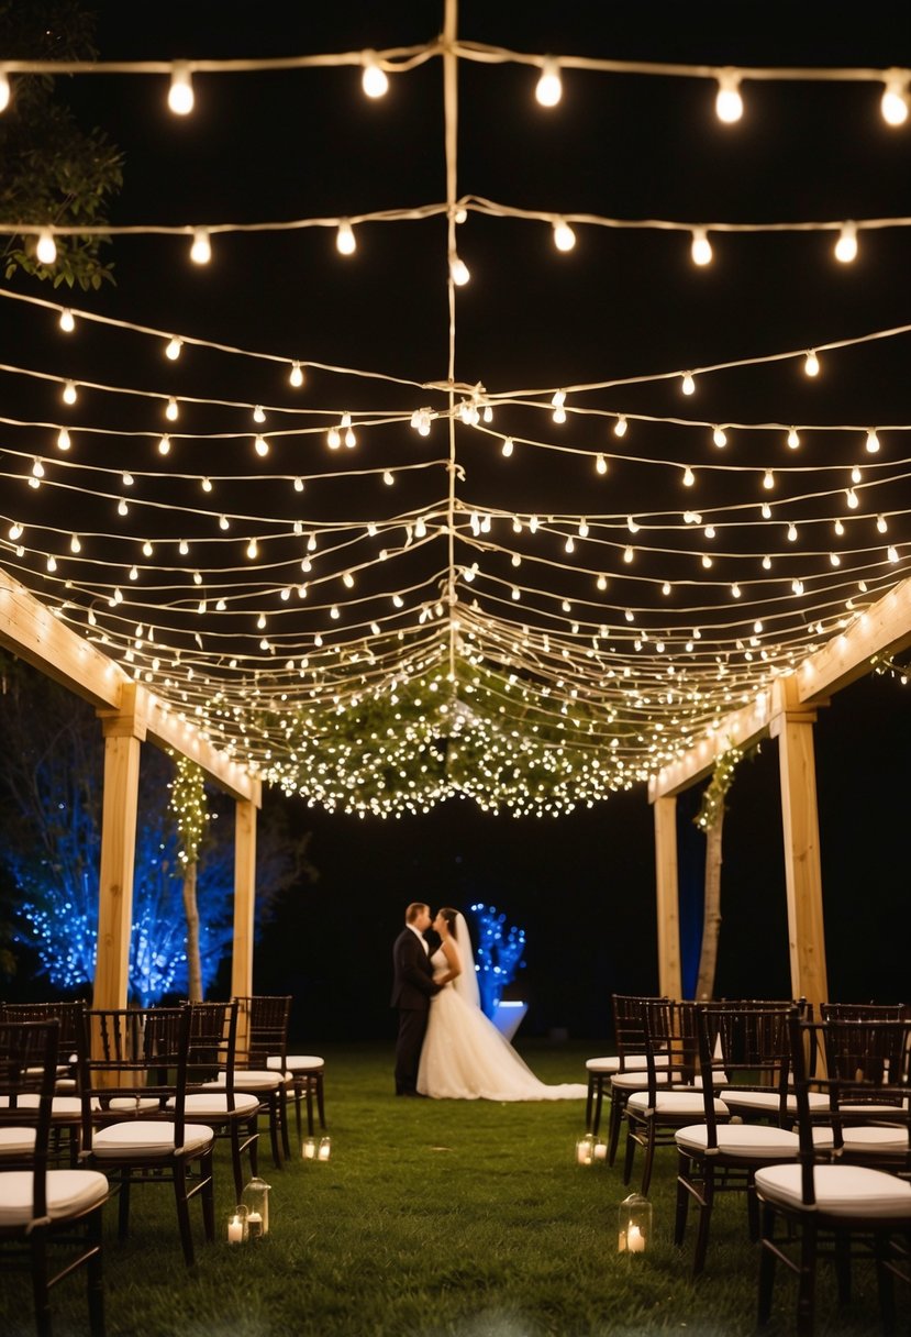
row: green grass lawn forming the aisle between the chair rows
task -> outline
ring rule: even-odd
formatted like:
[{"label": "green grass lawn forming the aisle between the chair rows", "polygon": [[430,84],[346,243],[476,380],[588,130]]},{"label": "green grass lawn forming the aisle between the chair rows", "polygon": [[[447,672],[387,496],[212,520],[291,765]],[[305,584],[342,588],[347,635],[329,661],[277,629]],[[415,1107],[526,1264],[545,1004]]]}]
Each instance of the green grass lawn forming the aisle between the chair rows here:
[{"label": "green grass lawn forming the aisle between the chair rows", "polygon": [[[546,1082],[578,1082],[590,1050],[530,1042],[520,1050]],[[327,1047],[325,1165],[294,1159],[272,1170],[271,1231],[230,1247],[234,1191],[216,1158],[216,1243],[183,1265],[170,1186],[136,1189],[132,1234],[116,1239],[106,1209],[110,1337],[582,1337],[755,1332],[757,1250],[741,1195],[716,1207],[708,1266],[689,1277],[691,1238],[672,1242],[675,1157],[660,1151],[651,1198],[656,1242],[644,1257],[617,1254],[617,1205],[637,1187],[618,1170],[573,1163],[582,1102],[492,1104],[397,1100],[391,1048]],[[198,1203],[192,1205],[199,1223]],[[200,1239],[200,1229],[196,1230]],[[899,1289],[899,1318],[908,1298]],[[875,1333],[872,1269],[855,1269],[851,1306],[839,1313],[827,1265],[817,1297],[820,1334]],[[795,1290],[781,1274],[769,1337],[795,1332]],[[56,1337],[88,1333],[83,1277],[53,1296]],[[0,1337],[33,1333],[25,1280],[4,1277]]]}]

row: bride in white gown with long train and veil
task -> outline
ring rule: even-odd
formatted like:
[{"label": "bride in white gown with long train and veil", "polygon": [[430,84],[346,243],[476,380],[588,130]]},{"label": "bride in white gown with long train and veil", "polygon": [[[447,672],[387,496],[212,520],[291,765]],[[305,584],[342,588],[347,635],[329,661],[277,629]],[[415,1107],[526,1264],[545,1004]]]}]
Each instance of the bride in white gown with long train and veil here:
[{"label": "bride in white gown with long train and veil", "polygon": [[418,1091],[449,1100],[581,1100],[584,1084],[546,1086],[481,1011],[472,940],[458,910],[433,921],[441,944],[430,961],[442,988],[430,1000]]}]

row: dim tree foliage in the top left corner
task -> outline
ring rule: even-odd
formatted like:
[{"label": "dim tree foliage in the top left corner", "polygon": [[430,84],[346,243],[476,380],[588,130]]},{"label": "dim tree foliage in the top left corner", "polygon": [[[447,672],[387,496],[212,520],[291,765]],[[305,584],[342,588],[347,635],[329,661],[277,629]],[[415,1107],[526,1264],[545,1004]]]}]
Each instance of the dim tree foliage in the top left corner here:
[{"label": "dim tree foliage in the top left corner", "polygon": [[[0,51],[8,60],[92,60],[95,19],[73,0],[0,0]],[[17,75],[0,116],[0,222],[102,226],[123,182],[123,158],[107,134],[84,130],[60,100],[59,79]],[[55,237],[57,258],[41,265],[33,235],[7,238],[5,277],[21,269],[81,289],[112,282],[106,237]]]}]

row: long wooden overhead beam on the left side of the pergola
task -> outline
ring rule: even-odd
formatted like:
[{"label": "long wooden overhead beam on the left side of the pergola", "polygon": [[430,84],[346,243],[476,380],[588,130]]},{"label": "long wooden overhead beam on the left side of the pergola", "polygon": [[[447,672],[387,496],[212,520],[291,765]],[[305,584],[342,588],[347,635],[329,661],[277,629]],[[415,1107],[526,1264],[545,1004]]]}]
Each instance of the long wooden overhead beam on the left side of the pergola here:
[{"label": "long wooden overhead beam on the left side of the pergola", "polygon": [[124,713],[138,710],[144,717],[147,735],[154,743],[174,747],[199,762],[208,778],[234,798],[250,800],[256,806],[262,804],[258,777],[203,738],[192,719],[182,718],[154,693],[134,683],[114,659],[55,618],[4,571],[0,571],[0,646],[63,683],[96,710],[120,713],[122,702],[127,701],[124,691],[128,693]]}]

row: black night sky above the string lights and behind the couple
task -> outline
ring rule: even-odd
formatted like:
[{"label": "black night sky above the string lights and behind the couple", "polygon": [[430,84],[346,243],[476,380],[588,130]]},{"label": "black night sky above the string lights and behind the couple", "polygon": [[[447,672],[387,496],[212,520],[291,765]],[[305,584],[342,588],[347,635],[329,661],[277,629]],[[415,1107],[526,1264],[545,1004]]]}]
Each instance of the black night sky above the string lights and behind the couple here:
[{"label": "black night sky above the string lights and behind the couple", "polygon": [[[442,25],[437,3],[94,8],[103,59],[381,48],[425,41]],[[858,8],[852,23],[838,24],[831,7],[801,5],[797,32],[793,5],[466,0],[460,32],[521,51],[621,60],[908,64],[907,25],[896,29],[890,8]],[[409,75],[401,88],[394,84],[379,112],[362,98],[355,70],[315,74],[306,84],[291,75],[244,79],[238,86],[200,78],[196,112],[178,127],[151,80],[73,82],[80,115],[106,126],[126,152],[115,222],[243,222],[443,198],[438,63]],[[565,76],[560,116],[542,119],[530,110],[532,80],[528,68],[513,66],[465,70],[462,191],[532,209],[569,202],[573,211],[628,218],[911,214],[911,130],[898,138],[879,130],[872,84],[751,86],[743,126],[723,135],[708,84],[691,82],[681,92],[679,84],[665,87],[669,80],[621,76],[605,94],[601,82]],[[460,299],[458,325],[460,377],[469,382],[560,384],[602,376],[605,366],[612,376],[633,376],[753,357],[900,325],[911,312],[904,229],[876,234],[858,263],[838,274],[831,238],[727,239],[712,271],[696,273],[680,237],[621,233],[604,245],[577,246],[554,291],[546,273],[550,243],[538,229],[517,230],[504,253],[493,246],[493,221],[473,218],[469,226],[478,279]],[[433,380],[443,374],[446,352],[446,293],[434,267],[442,229],[442,221],[419,234],[407,226],[377,229],[347,267],[326,259],[326,235],[236,237],[224,243],[214,273],[179,262],[174,242],[119,241],[116,289],[75,301],[244,348],[293,353],[306,336],[327,362]],[[44,295],[25,279],[12,286]],[[39,346],[25,341],[20,353],[29,352]],[[120,356],[120,366],[106,374],[140,381],[143,365],[130,361],[126,344]],[[875,360],[859,358],[850,376],[830,382],[827,412],[834,420],[871,421],[888,412],[891,421],[907,422],[906,365],[907,341]],[[725,396],[740,396],[740,406],[743,392],[741,384],[725,382],[703,410],[733,416]],[[636,406],[630,400],[630,412]],[[820,711],[832,997],[907,993],[908,693],[894,679],[868,678]],[[696,793],[679,804],[689,971],[701,893],[701,837],[691,822],[697,800]],[[295,1027],[303,1032],[306,1017],[314,1042],[391,1035],[390,947],[414,898],[462,910],[482,900],[525,928],[520,992],[530,1012],[524,1034],[605,1038],[612,991],[656,988],[652,813],[641,790],[561,820],[493,817],[449,801],[421,818],[381,822],[291,802],[301,829],[313,832],[310,854],[321,880],[289,894],[266,928],[254,984],[259,992],[293,992]],[[731,793],[723,916],[717,993],[788,995],[771,741],[743,763]]]}]

